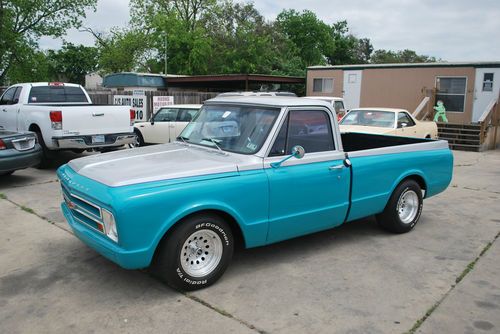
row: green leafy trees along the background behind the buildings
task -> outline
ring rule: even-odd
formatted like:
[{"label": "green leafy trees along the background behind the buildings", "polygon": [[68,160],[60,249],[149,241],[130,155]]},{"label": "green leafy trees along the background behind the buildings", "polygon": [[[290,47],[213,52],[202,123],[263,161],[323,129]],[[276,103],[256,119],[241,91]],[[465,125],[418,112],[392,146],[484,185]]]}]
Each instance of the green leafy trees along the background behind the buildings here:
[{"label": "green leafy trees along the background behind the buildings", "polygon": [[266,21],[253,3],[233,0],[131,0],[125,28],[98,33],[95,47],[64,44],[42,52],[41,36],[80,27],[97,0],[0,0],[0,85],[61,80],[87,73],[275,74],[304,76],[311,65],[432,62],[412,50],[374,51],[368,38],[305,10],[283,10]]}]

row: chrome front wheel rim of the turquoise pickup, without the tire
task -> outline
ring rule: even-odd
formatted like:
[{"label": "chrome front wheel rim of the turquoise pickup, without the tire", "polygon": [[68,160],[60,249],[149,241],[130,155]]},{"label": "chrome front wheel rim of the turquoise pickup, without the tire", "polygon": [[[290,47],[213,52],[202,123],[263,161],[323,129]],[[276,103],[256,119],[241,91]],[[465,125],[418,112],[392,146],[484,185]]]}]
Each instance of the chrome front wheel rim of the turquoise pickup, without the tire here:
[{"label": "chrome front wheel rim of the turquoise pickup, without the tire", "polygon": [[222,250],[222,240],[217,233],[206,229],[196,231],[182,245],[182,269],[192,277],[209,275],[222,259]]}]

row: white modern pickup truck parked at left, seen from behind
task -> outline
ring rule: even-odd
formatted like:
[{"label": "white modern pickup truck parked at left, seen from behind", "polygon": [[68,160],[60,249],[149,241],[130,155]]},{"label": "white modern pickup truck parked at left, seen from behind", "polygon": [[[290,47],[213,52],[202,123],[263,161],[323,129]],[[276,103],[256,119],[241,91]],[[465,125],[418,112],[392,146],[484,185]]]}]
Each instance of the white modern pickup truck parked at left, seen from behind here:
[{"label": "white modern pickup truck parked at left, seen from behind", "polygon": [[132,143],[134,119],[126,106],[93,105],[77,84],[16,84],[0,98],[0,129],[35,132],[44,150],[42,165],[57,150],[82,152]]}]

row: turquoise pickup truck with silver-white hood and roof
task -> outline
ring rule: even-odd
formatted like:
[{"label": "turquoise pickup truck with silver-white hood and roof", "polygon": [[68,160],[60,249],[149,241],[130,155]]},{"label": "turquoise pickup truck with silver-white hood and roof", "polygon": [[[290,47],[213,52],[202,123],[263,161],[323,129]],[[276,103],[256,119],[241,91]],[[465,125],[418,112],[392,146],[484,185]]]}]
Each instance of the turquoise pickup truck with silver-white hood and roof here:
[{"label": "turquoise pickup truck with silver-white hood and roof", "polygon": [[80,240],[123,268],[149,267],[194,290],[221,277],[236,245],[371,215],[408,232],[452,169],[446,141],[341,134],[327,102],[221,97],[174,143],[72,160],[57,174]]}]

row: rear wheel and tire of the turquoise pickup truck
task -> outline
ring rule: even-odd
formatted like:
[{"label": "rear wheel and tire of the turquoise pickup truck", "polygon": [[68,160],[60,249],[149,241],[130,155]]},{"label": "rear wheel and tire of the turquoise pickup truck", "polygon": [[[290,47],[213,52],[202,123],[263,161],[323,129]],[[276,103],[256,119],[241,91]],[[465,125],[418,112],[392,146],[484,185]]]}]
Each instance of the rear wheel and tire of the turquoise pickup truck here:
[{"label": "rear wheel and tire of the turquoise pickup truck", "polygon": [[418,183],[403,181],[392,193],[384,211],[377,215],[377,222],[392,233],[409,232],[417,224],[422,206],[422,190]]}]

